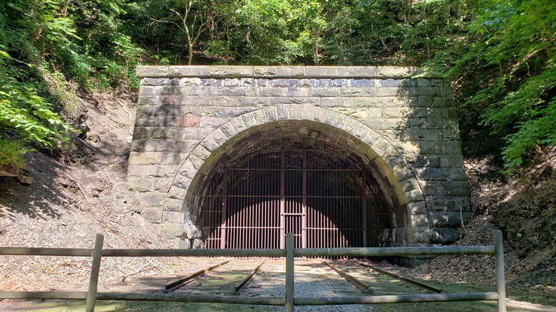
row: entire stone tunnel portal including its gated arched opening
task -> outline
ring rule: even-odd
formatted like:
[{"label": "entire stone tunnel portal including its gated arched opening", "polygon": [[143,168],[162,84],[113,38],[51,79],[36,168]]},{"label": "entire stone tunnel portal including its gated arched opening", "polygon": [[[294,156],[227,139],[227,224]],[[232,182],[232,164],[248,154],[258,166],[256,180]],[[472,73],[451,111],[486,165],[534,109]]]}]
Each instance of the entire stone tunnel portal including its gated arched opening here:
[{"label": "entire stone tunnel portal including its gated arched opening", "polygon": [[450,81],[380,66],[139,66],[128,183],[176,248],[448,244]]}]

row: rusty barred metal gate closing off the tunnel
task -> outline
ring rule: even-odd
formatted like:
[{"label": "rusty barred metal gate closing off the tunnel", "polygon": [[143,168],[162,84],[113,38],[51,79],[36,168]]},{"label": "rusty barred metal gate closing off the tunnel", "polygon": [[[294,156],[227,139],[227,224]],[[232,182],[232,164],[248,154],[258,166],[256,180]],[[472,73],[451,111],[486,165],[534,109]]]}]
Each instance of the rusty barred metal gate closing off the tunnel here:
[{"label": "rusty barred metal gate closing off the tunnel", "polygon": [[257,152],[224,170],[201,214],[205,248],[366,246],[364,170],[329,152]]}]

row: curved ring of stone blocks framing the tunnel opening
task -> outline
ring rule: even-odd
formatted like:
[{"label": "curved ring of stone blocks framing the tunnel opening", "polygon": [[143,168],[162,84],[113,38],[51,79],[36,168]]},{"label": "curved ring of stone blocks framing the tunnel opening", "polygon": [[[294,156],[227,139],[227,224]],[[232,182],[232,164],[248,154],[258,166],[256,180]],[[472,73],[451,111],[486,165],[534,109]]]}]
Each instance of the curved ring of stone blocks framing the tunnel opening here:
[{"label": "curved ring of stone blocks framing the tunnel opening", "polygon": [[[191,204],[195,201],[195,189],[202,185],[202,180],[211,170],[220,170],[222,166],[217,160],[226,157],[226,147],[240,142],[242,138],[253,132],[264,129],[264,125],[285,121],[299,120],[312,123],[325,130],[335,131],[338,135],[346,135],[348,146],[356,155],[369,164],[381,188],[386,189],[388,197],[393,199],[398,209],[398,220],[401,225],[398,234],[399,243],[411,244],[416,236],[416,227],[428,229],[428,214],[422,207],[415,209],[415,203],[424,203],[421,187],[405,157],[394,147],[387,137],[348,115],[320,108],[311,104],[287,104],[254,110],[245,113],[216,128],[207,135],[190,153],[180,169],[177,170],[165,200],[165,210],[175,211],[180,207],[183,223],[192,217]],[[262,128],[261,128],[262,127]],[[187,207],[190,204],[190,207]],[[412,205],[413,204],[413,205]],[[171,207],[171,208],[170,208]],[[403,210],[403,211],[402,211]],[[191,224],[184,229],[188,237],[198,234]]]}]

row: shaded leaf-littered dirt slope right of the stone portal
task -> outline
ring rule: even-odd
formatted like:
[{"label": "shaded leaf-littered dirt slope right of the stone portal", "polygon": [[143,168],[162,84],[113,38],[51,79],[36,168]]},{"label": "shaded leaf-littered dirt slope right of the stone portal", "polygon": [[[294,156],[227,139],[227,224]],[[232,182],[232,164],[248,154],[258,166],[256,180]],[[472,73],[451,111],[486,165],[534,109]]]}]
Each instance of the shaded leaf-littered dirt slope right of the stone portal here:
[{"label": "shaded leaf-littered dirt slope right of the stone portal", "polygon": [[[473,220],[456,245],[487,245],[504,235],[508,287],[556,297],[556,153],[552,149],[511,176],[489,158],[466,160]],[[416,270],[421,278],[494,284],[491,256],[439,256]]]}]

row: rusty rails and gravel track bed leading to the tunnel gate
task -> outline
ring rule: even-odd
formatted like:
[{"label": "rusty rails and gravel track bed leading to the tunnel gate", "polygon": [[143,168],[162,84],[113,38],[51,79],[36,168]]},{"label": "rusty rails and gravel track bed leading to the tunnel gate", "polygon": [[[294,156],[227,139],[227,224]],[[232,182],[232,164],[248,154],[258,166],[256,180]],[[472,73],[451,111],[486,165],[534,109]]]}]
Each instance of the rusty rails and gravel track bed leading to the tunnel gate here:
[{"label": "rusty rails and gravel track bed leading to the tunnel gate", "polygon": [[[371,267],[369,267],[371,266]],[[200,273],[204,274],[200,274]],[[180,285],[176,281],[185,280]],[[297,260],[295,296],[376,296],[439,293],[440,289],[399,276],[374,264],[354,261]],[[284,296],[285,261],[231,259],[199,268],[168,283],[168,293],[239,296]],[[322,308],[322,307],[321,307]]]}]

